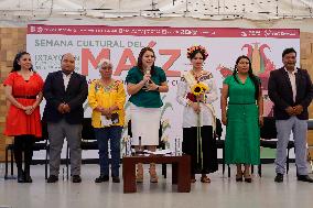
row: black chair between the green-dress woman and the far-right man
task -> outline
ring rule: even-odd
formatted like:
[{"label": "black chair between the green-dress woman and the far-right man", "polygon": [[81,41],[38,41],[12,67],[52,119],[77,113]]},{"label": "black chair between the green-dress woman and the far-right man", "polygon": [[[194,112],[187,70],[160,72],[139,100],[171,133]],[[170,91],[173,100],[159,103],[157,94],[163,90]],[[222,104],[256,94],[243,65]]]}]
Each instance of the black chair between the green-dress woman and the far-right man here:
[{"label": "black chair between the green-dress woman and the far-right man", "polygon": [[[260,146],[262,147],[269,147],[269,149],[277,149],[277,129],[276,129],[276,119],[273,117],[265,117],[263,118],[263,125],[260,129]],[[289,141],[287,146],[287,174],[289,172],[289,152],[290,149],[294,147],[294,142]],[[258,174],[261,177],[262,171],[261,171],[261,164],[259,165]]]}]

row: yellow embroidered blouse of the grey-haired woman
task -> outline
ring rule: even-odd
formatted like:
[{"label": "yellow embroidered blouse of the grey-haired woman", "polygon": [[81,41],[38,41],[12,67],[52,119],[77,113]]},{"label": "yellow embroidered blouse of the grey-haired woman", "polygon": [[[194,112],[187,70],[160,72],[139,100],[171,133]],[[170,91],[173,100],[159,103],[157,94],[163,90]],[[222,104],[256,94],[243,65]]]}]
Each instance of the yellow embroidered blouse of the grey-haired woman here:
[{"label": "yellow embroidered blouse of the grey-haired woman", "polygon": [[123,125],[125,123],[125,106],[126,92],[123,89],[123,84],[119,80],[114,80],[114,83],[107,87],[102,86],[99,79],[94,80],[90,84],[88,91],[88,103],[93,109],[91,124],[94,128],[102,128],[101,125],[101,112],[95,110],[97,107],[110,108],[111,106],[118,106],[119,110],[119,122],[112,125]]}]

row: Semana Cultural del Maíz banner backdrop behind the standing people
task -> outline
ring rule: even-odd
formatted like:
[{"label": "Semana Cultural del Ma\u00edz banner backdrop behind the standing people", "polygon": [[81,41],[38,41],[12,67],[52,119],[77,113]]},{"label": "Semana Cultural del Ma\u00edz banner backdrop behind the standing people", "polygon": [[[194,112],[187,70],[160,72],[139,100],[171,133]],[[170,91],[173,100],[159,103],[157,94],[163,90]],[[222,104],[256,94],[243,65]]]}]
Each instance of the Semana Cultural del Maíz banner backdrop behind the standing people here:
[{"label": "Semana Cultural del Ma\u00edz banner backdrop behind the standing people", "polygon": [[[168,76],[170,91],[162,94],[163,140],[174,149],[174,139],[182,141],[182,110],[175,100],[180,76],[192,68],[186,50],[203,45],[208,51],[204,69],[209,70],[218,88],[223,79],[233,73],[240,55],[252,61],[253,73],[262,80],[265,116],[271,114],[272,103],[267,96],[269,73],[280,66],[285,47],[300,52],[300,31],[293,29],[230,29],[230,28],[168,28],[168,26],[101,26],[101,25],[43,25],[28,26],[26,50],[32,55],[34,69],[45,78],[48,73],[61,69],[65,53],[76,57],[76,72],[87,76],[90,83],[99,78],[96,68],[102,58],[114,63],[114,77],[125,80],[130,67],[136,65],[140,50],[150,46],[156,55],[155,65]],[[298,55],[299,62],[299,55]],[[43,110],[43,101],[41,109]],[[128,106],[126,110],[128,112]],[[220,118],[219,100],[214,102]],[[85,117],[90,108],[85,103]],[[128,114],[129,118],[129,114]],[[125,128],[123,136],[127,135]],[[84,155],[95,157],[96,153]],[[96,156],[97,157],[97,156]]]}]

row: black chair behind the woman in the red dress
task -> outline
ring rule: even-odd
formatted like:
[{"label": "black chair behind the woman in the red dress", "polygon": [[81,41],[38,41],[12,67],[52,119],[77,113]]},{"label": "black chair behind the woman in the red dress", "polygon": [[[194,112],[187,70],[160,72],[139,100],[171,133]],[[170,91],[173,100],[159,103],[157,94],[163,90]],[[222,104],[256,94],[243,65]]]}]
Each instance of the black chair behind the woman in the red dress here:
[{"label": "black chair behind the woman in the red dress", "polygon": [[[34,144],[33,144],[33,151],[42,151],[45,150],[45,162],[44,162],[44,167],[45,167],[45,178],[47,178],[47,157],[48,157],[48,134],[47,134],[47,125],[46,122],[42,121],[42,136],[34,139]],[[8,175],[8,169],[9,169],[9,151],[11,155],[11,173],[10,176]],[[4,179],[15,179],[14,174],[14,168],[13,168],[13,152],[14,152],[14,143],[8,144],[6,146],[6,174],[4,174]]]}]

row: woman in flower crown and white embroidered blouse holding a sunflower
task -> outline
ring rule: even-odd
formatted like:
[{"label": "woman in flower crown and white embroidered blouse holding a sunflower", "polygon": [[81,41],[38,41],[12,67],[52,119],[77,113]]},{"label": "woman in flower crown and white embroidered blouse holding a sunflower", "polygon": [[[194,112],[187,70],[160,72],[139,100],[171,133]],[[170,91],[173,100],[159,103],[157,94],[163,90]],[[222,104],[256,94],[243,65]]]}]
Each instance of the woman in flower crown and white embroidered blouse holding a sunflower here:
[{"label": "woman in flower crown and white embroidered blouse holding a sunflower", "polygon": [[[197,45],[187,50],[192,69],[181,77],[176,100],[184,106],[183,114],[183,153],[191,155],[191,182],[195,174],[202,174],[202,183],[211,183],[207,174],[216,172],[217,147],[214,138],[215,112],[212,102],[217,100],[217,88],[212,74],[203,68],[208,54],[205,47]],[[203,95],[194,96],[195,84],[208,88]]]}]

